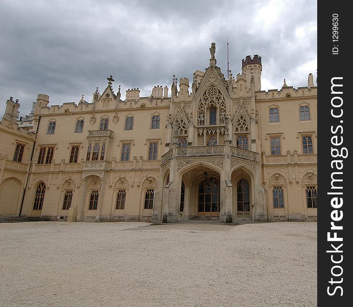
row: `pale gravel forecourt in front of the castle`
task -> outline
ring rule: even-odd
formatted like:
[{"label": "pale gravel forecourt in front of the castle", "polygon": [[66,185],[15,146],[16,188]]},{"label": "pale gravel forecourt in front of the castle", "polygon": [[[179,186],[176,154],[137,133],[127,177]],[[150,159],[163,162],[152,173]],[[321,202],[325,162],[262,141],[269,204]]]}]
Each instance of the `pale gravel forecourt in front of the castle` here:
[{"label": "pale gravel forecourt in front of the castle", "polygon": [[0,224],[0,306],[316,306],[317,223]]}]

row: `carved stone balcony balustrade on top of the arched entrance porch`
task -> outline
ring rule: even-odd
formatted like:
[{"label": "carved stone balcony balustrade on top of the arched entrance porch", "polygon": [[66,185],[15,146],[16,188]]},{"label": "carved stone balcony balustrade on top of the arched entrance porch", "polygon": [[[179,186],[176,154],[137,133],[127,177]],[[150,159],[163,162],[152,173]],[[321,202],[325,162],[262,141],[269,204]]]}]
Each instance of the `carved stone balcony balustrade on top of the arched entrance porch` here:
[{"label": "carved stone balcony balustrade on top of the arched entrance porch", "polygon": [[173,148],[162,156],[161,163],[172,158],[186,157],[210,157],[210,156],[225,156],[245,159],[253,162],[259,161],[259,154],[254,151],[237,148],[234,146],[218,145],[218,146],[195,146],[195,147],[178,147]]}]

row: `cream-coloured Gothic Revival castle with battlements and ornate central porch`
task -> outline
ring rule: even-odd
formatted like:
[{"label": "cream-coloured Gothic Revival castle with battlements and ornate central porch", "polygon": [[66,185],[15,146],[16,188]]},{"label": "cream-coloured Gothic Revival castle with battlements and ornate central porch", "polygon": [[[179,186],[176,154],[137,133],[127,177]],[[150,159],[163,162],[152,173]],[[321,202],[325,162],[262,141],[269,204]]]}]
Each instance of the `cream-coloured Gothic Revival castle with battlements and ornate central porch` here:
[{"label": "cream-coloured Gothic Revival castle with battlements and ornate central porch", "polygon": [[82,96],[49,106],[39,94],[18,128],[9,100],[0,126],[1,214],[21,207],[21,216],[68,221],[316,220],[313,75],[305,87],[284,80],[280,90],[261,91],[260,56],[247,56],[241,74],[226,79],[215,43],[210,54],[191,86],[173,76],[170,91],[157,85],[149,97],[128,89],[121,100],[112,76],[90,103]]}]

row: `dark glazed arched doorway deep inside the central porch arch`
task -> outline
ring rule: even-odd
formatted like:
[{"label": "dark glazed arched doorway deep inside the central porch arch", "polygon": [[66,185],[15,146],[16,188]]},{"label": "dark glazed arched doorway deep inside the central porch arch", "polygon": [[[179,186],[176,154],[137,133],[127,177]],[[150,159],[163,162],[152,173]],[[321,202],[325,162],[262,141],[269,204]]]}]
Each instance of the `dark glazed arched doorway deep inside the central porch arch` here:
[{"label": "dark glazed arched doorway deep inside the central porch arch", "polygon": [[215,177],[204,179],[198,184],[197,216],[219,216],[220,184]]}]

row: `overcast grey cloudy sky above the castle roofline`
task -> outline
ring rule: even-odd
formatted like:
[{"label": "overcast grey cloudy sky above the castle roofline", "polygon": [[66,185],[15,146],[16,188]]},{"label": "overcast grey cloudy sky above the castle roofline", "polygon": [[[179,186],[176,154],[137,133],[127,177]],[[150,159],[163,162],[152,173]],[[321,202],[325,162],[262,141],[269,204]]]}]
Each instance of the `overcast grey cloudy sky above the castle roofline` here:
[{"label": "overcast grey cloudy sky above the castle roofline", "polygon": [[[317,70],[316,1],[243,0],[0,0],[0,118],[6,100],[18,99],[21,116],[38,93],[50,104],[92,101],[113,75],[122,98],[131,87],[149,96],[175,74],[192,83],[209,65],[227,77],[227,37],[233,75],[246,55],[262,57],[261,90],[283,79],[306,86]],[[316,84],[316,83],[315,83]]]}]

